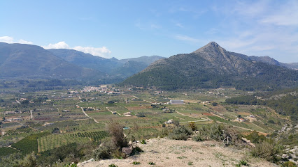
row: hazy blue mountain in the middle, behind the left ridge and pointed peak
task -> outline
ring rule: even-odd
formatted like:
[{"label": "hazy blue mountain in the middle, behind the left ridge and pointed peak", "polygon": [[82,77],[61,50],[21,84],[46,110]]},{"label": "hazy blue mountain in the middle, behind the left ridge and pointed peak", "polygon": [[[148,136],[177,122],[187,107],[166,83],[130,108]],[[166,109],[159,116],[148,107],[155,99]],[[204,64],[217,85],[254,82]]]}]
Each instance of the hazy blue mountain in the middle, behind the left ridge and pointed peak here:
[{"label": "hazy blue mountain in the middle, behind the left ridge and pointed peak", "polygon": [[121,78],[127,78],[132,76],[132,74],[141,72],[141,70],[144,70],[154,61],[163,58],[161,56],[141,56],[139,58],[118,60],[117,58],[93,56],[92,54],[85,54],[82,51],[73,49],[48,49],[48,51],[51,51],[52,54],[63,58],[69,63],[105,72],[110,77]]}]

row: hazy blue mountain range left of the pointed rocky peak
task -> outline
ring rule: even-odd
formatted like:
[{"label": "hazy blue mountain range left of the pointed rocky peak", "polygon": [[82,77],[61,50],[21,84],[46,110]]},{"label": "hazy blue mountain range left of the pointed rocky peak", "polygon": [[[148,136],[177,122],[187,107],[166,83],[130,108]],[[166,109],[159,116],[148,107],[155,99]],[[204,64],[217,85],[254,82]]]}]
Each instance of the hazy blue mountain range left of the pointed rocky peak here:
[{"label": "hazy blue mountain range left of the pointed rocky peak", "polygon": [[102,58],[73,49],[0,42],[0,79],[114,79],[145,69],[160,56]]}]

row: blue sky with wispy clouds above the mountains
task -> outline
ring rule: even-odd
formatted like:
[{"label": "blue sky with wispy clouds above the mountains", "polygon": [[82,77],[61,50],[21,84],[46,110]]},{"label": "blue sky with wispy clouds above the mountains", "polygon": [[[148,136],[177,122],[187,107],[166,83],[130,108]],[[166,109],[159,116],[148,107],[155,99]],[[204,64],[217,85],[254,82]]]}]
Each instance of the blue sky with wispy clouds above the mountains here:
[{"label": "blue sky with wispy clouds above the mountains", "polygon": [[228,51],[298,62],[298,1],[0,0],[0,42],[105,58]]}]

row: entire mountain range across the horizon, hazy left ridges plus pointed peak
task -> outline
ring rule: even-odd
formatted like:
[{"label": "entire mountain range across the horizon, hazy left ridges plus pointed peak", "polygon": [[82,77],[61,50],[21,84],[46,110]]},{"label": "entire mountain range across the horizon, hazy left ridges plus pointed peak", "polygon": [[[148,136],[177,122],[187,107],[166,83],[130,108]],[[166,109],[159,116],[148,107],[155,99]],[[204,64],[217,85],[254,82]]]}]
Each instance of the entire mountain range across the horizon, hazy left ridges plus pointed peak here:
[{"label": "entire mountain range across the horizon, hazy left ridges plus pointed peak", "polygon": [[170,58],[141,56],[122,60],[73,49],[0,42],[0,79],[108,79],[115,83],[130,77],[122,85],[167,89],[297,84],[297,71],[285,67],[298,69],[298,63],[237,54],[215,42]]}]

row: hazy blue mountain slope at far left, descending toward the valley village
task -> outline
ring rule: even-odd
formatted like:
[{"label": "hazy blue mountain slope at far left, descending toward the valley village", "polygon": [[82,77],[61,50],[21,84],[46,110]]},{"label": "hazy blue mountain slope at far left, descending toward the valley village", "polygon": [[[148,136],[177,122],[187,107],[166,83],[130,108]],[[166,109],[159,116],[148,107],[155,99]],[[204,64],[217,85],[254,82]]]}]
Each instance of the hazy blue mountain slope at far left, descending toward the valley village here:
[{"label": "hazy blue mountain slope at far left, descending toward the valley village", "polygon": [[42,47],[0,42],[1,79],[82,79],[102,76],[95,70],[68,63]]}]

